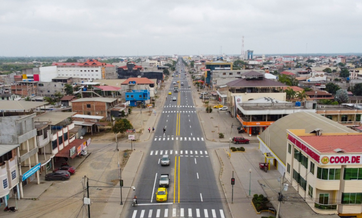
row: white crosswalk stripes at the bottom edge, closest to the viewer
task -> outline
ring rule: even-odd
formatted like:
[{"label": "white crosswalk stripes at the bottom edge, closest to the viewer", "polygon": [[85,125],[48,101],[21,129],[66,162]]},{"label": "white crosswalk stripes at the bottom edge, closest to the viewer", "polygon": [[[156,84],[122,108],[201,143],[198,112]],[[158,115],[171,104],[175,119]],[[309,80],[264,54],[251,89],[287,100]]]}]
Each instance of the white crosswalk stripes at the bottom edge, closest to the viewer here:
[{"label": "white crosswalk stripes at the bottom edge, closest to the viewer", "polygon": [[[177,216],[177,209],[176,208],[172,208],[172,214],[168,213],[168,209],[163,209],[164,211],[161,211],[162,209],[157,209],[156,210],[156,218],[159,218],[161,216],[161,212],[163,212],[163,217],[168,217],[169,215],[171,215],[172,217],[178,217]],[[211,214],[212,217],[209,217],[209,212],[208,209],[203,209],[203,214],[202,214],[202,210],[200,209],[195,209],[196,210],[196,217],[205,217],[205,218],[225,218],[224,215],[224,211],[222,209],[219,209],[219,213],[217,213],[215,209],[211,209]],[[210,210],[210,209],[209,209]],[[141,210],[138,216],[138,211],[139,210],[134,210],[132,213],[132,218],[153,218],[153,209],[148,210],[148,216],[146,213],[146,210]],[[187,213],[187,214],[186,214]],[[146,216],[145,216],[146,214]],[[184,208],[180,208],[180,217],[184,218],[184,217],[193,217],[193,209],[192,208],[188,208],[187,210],[185,210]],[[170,216],[170,217],[171,217]],[[162,216],[161,216],[162,217]]]}]

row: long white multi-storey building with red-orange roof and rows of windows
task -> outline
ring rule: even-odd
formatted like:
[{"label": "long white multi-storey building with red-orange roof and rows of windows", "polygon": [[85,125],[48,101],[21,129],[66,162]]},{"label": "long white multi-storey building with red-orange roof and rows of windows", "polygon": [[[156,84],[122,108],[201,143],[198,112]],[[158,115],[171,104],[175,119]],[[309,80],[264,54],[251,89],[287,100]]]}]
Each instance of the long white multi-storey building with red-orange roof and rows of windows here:
[{"label": "long white multi-storey building with red-orange roof and rows of windows", "polygon": [[115,66],[93,59],[83,63],[52,63],[52,66],[57,66],[58,77],[75,77],[84,81],[117,78]]}]

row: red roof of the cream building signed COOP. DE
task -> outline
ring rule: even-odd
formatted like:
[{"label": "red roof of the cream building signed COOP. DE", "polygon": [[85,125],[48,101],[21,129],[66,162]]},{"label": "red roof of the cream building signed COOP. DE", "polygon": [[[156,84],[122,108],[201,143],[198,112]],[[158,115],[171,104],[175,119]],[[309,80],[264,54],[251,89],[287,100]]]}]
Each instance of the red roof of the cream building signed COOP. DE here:
[{"label": "red roof of the cream building signed COOP. DE", "polygon": [[333,150],[337,148],[347,153],[362,152],[362,135],[321,135],[300,136],[299,138],[321,153],[336,153]]}]

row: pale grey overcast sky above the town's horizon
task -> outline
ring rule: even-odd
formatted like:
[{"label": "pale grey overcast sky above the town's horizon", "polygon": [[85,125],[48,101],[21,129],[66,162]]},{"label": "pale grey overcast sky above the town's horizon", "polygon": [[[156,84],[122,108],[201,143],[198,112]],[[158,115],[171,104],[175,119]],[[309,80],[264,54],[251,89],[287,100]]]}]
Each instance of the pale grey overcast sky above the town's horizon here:
[{"label": "pale grey overcast sky above the town's horizon", "polygon": [[0,56],[362,52],[361,0],[0,4]]}]

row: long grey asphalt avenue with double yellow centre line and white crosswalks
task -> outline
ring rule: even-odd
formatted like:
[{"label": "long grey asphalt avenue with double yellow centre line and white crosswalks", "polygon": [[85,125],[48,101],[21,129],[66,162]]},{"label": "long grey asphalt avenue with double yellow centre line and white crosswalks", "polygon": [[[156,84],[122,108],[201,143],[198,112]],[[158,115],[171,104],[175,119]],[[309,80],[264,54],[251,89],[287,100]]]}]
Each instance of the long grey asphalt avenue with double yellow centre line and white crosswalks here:
[{"label": "long grey asphalt avenue with double yellow centre line and white crosswalks", "polygon": [[[218,190],[219,181],[215,179],[215,173],[218,172],[212,169],[181,61],[177,63],[176,71],[180,74],[175,73],[171,78],[176,81],[179,91],[173,92],[174,85],[170,85],[172,95],[167,95],[160,121],[151,139],[150,152],[144,159],[145,167],[139,171],[140,179],[135,184],[138,206],[130,205],[127,217],[228,217],[222,204],[224,196],[222,198]],[[176,97],[176,101],[172,97]],[[163,128],[166,129],[165,133]],[[161,166],[160,158],[163,154],[170,156],[169,166]],[[168,173],[171,179],[165,202],[157,202],[155,194],[161,173]]]}]

